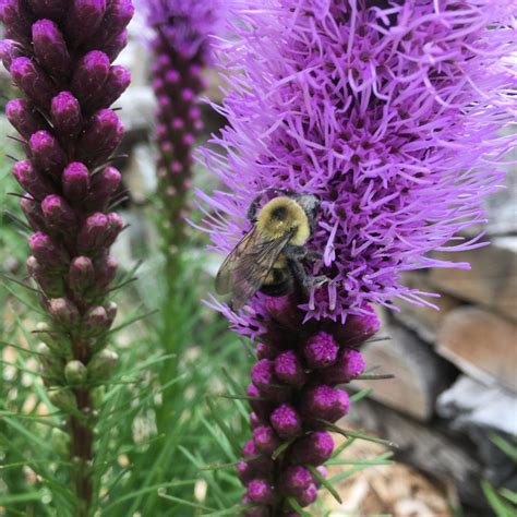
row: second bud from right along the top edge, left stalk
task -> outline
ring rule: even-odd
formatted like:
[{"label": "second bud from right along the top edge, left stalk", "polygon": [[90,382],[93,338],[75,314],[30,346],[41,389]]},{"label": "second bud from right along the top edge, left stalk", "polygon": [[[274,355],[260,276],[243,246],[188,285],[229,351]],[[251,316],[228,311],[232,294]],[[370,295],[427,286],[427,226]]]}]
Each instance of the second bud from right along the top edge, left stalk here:
[{"label": "second bud from right along the top edge, left stalk", "polygon": [[89,39],[100,26],[105,12],[106,0],[74,0],[64,21],[71,41],[77,46]]}]

